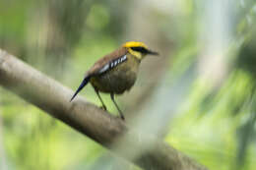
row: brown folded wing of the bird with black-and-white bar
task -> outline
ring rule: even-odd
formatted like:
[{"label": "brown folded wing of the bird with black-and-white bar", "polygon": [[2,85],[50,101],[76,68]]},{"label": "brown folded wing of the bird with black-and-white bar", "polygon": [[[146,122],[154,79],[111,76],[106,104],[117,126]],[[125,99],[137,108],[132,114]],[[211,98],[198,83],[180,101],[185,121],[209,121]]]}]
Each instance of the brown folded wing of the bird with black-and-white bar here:
[{"label": "brown folded wing of the bird with black-and-white bar", "polygon": [[86,75],[98,75],[112,69],[113,67],[117,66],[117,64],[127,60],[127,52],[128,51],[126,48],[121,47],[112,53],[105,55],[95,63],[95,65],[87,72]]}]

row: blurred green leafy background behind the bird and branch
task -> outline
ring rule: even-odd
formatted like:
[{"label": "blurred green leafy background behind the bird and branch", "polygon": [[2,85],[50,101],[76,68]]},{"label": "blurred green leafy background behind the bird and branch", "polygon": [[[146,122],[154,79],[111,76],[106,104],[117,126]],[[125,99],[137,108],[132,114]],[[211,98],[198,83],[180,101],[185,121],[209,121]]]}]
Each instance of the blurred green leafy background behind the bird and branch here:
[{"label": "blurred green leafy background behind the bird and branch", "polygon": [[[0,11],[0,47],[73,89],[104,54],[146,42],[160,57],[118,97],[127,123],[209,169],[256,168],[253,0],[10,0]],[[81,95],[100,104],[90,85]],[[138,167],[0,88],[0,169]]]}]

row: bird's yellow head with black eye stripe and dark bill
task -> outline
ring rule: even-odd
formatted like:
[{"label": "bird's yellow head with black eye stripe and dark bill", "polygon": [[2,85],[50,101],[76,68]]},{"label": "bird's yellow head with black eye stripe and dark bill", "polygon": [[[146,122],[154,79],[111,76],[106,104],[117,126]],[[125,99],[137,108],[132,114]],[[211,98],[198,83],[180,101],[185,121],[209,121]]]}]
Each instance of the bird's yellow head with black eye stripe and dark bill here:
[{"label": "bird's yellow head with black eye stripe and dark bill", "polygon": [[134,55],[139,60],[142,60],[147,54],[159,55],[158,52],[152,51],[143,42],[128,41],[122,45],[128,49],[128,52]]}]

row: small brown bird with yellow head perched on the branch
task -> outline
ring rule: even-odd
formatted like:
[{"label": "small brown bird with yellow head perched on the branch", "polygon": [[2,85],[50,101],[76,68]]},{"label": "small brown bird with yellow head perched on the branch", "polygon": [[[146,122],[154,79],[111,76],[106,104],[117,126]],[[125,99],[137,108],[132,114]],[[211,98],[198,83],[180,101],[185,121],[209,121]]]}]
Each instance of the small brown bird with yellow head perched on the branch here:
[{"label": "small brown bird with yellow head perched on the branch", "polygon": [[159,53],[149,49],[145,43],[140,41],[125,42],[96,61],[94,66],[86,72],[84,80],[71,97],[70,102],[85,85],[91,83],[102,104],[101,108],[107,110],[99,92],[110,93],[110,98],[121,119],[125,120],[123,112],[115,102],[114,95],[129,91],[135,84],[140,63],[147,55],[159,55]]}]

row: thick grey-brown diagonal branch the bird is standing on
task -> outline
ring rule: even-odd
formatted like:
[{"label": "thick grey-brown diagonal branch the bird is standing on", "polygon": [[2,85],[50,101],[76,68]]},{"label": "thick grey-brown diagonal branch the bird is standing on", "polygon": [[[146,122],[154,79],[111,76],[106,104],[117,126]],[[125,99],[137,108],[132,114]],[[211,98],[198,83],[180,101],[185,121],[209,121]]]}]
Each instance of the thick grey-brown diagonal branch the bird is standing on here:
[{"label": "thick grey-brown diagonal branch the bird is standing on", "polygon": [[84,97],[78,96],[74,102],[69,102],[73,94],[71,89],[1,49],[0,85],[144,169],[207,169],[155,137],[128,129],[119,118],[111,116]]}]

